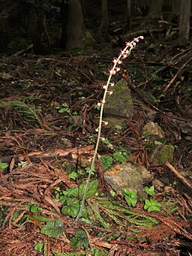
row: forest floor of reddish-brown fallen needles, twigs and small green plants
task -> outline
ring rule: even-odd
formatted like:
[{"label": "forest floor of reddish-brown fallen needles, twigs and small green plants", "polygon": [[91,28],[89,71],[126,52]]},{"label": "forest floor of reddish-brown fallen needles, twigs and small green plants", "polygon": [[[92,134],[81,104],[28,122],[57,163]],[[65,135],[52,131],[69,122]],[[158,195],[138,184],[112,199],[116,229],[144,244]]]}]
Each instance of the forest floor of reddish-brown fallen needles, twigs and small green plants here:
[{"label": "forest floor of reddish-brown fallen needles, twigs and small green plants", "polygon": [[[1,59],[1,255],[192,253],[192,44],[158,36],[139,42],[114,77],[117,82],[126,69],[137,89],[131,89],[133,118],[124,130],[105,126],[98,153],[123,151],[126,161],[147,166],[159,184],[152,198],[160,212],[148,212],[143,200],[129,207],[113,194],[98,159],[92,175],[98,189],[92,182],[84,215],[73,226],[76,188],[83,190],[97,138],[97,103],[119,48],[102,42],[74,53]],[[142,137],[151,110],[166,143],[175,146],[173,162],[163,166],[148,162],[150,142]]]}]

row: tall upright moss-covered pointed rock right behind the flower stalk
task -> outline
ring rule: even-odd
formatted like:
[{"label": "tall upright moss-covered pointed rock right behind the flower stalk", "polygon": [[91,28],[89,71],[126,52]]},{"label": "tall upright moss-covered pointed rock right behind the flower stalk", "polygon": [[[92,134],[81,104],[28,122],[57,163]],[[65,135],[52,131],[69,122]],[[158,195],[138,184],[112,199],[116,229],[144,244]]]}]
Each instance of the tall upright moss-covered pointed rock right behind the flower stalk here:
[{"label": "tall upright moss-covered pointed rock right behind the flower stalk", "polygon": [[[133,116],[133,101],[124,79],[119,80],[110,90],[113,90],[113,94],[107,96],[104,104],[104,119],[109,118],[109,127],[113,127],[114,122],[116,125],[122,125],[123,119],[130,119]],[[113,123],[110,123],[111,117]]]}]

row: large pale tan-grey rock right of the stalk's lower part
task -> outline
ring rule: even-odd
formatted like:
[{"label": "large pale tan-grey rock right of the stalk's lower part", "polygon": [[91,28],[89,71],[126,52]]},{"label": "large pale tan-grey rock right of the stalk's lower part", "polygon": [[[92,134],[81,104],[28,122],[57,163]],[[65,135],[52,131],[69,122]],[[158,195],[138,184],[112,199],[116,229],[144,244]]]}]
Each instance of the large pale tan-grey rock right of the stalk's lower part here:
[{"label": "large pale tan-grey rock right of the stalk's lower part", "polygon": [[104,179],[117,194],[122,194],[124,188],[129,191],[142,191],[142,170],[130,163],[108,168],[104,172]]}]

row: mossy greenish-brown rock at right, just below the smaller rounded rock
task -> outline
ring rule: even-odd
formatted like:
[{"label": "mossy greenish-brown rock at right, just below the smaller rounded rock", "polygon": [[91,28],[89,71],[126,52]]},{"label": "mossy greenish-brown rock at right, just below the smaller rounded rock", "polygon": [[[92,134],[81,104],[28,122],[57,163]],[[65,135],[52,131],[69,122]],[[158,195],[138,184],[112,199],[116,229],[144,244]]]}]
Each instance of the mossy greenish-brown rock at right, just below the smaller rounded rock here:
[{"label": "mossy greenish-brown rock at right, just below the smaller rounded rock", "polygon": [[172,162],[175,147],[172,145],[157,145],[149,156],[150,164],[163,166],[166,160]]}]

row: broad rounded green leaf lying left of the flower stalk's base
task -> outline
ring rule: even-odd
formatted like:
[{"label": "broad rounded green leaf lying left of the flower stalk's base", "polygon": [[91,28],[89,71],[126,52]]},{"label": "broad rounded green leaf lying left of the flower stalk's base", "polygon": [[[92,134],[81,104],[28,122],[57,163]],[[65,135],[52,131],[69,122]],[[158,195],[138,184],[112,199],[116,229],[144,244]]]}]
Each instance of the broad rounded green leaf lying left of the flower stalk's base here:
[{"label": "broad rounded green leaf lying left of the flower stalk's base", "polygon": [[49,237],[62,236],[62,234],[64,233],[63,221],[61,219],[48,221],[46,225],[41,228],[40,233],[43,233]]}]

